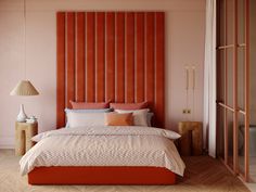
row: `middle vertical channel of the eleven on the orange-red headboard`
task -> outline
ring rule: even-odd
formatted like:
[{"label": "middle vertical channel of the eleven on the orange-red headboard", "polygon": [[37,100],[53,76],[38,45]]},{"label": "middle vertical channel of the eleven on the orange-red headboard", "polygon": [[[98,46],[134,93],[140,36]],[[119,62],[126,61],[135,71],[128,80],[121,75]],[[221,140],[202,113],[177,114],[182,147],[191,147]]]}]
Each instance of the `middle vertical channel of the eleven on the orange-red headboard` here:
[{"label": "middle vertical channel of the eleven on the orange-red headboard", "polygon": [[115,14],[106,13],[106,100],[115,101]]}]

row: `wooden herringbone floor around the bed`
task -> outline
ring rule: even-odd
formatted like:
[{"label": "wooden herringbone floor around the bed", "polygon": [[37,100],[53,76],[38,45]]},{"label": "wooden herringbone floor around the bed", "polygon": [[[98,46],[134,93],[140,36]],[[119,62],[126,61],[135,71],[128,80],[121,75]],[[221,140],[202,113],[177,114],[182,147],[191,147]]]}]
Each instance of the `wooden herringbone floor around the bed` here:
[{"label": "wooden herringbone floor around the bed", "polygon": [[184,157],[184,177],[175,185],[29,185],[12,150],[0,150],[0,192],[247,192],[227,168],[208,156]]}]

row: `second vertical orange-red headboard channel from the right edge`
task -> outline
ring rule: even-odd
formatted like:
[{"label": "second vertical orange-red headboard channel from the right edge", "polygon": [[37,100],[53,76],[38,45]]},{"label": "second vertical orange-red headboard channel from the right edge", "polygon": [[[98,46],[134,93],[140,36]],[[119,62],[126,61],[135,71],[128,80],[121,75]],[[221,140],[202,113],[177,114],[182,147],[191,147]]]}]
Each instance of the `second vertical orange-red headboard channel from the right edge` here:
[{"label": "second vertical orange-red headboard channel from the right edge", "polygon": [[145,100],[154,110],[154,13],[145,14]]}]

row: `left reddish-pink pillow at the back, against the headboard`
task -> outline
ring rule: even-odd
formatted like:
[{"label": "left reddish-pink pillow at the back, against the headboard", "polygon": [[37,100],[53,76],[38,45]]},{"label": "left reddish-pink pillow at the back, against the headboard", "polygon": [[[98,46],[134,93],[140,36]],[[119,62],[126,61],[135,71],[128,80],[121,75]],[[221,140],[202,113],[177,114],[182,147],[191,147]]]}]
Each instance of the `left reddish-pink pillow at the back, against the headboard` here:
[{"label": "left reddish-pink pillow at the back, against the headboard", "polygon": [[74,110],[100,110],[100,108],[110,108],[110,103],[108,102],[101,102],[101,103],[87,103],[87,102],[75,102],[75,101],[69,101],[72,104],[72,108]]}]

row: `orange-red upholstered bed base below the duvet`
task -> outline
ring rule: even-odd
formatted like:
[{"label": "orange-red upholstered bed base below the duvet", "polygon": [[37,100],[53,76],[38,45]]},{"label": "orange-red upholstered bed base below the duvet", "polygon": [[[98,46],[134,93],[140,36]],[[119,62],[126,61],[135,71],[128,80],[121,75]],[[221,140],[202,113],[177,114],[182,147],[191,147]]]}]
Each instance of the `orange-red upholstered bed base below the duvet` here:
[{"label": "orange-red upholstered bed base below the duvet", "polygon": [[175,184],[176,175],[159,167],[37,167],[29,184]]}]

